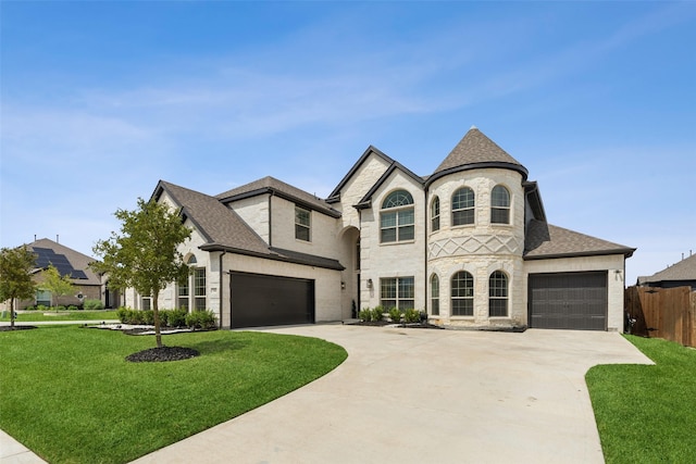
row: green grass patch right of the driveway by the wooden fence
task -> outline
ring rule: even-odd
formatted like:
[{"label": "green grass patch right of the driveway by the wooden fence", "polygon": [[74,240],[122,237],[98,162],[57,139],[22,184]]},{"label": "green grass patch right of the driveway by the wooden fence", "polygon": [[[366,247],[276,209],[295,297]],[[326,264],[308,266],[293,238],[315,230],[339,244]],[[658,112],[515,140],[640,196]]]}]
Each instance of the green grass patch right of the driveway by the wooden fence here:
[{"label": "green grass patch right of the driveway by the wooden fence", "polygon": [[696,350],[626,338],[656,365],[600,365],[587,372],[607,463],[693,463]]}]

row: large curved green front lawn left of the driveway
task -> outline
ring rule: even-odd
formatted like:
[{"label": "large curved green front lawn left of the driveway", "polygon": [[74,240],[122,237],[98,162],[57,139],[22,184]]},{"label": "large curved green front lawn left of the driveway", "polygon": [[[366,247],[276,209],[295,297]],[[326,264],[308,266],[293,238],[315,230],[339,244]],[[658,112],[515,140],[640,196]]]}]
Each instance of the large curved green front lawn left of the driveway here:
[{"label": "large curved green front lawn left of the driveway", "polygon": [[128,363],[151,336],[74,325],[0,333],[0,428],[51,463],[125,463],[321,377],[347,356],[314,338],[167,335],[200,356]]}]

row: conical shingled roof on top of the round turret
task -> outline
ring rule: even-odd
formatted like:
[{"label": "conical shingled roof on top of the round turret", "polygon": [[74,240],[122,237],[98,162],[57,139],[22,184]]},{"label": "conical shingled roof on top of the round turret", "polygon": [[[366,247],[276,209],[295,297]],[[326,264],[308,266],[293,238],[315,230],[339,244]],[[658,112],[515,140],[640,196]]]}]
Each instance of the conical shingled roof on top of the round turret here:
[{"label": "conical shingled roof on top of the round turret", "polygon": [[436,178],[447,174],[481,167],[513,170],[522,174],[523,180],[526,180],[529,174],[522,163],[510,156],[476,127],[472,127],[447,155],[445,161],[437,166],[433,175],[428,177],[427,183],[431,184]]}]

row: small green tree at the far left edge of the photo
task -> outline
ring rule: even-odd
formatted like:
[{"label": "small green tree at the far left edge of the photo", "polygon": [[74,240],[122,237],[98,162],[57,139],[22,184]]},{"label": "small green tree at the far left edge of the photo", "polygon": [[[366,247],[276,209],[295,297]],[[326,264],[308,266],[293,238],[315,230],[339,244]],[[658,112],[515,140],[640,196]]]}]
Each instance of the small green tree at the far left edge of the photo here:
[{"label": "small green tree at the far left edge of the photo", "polygon": [[0,301],[10,300],[10,326],[14,328],[14,300],[28,300],[36,292],[32,269],[36,254],[26,247],[0,250]]}]

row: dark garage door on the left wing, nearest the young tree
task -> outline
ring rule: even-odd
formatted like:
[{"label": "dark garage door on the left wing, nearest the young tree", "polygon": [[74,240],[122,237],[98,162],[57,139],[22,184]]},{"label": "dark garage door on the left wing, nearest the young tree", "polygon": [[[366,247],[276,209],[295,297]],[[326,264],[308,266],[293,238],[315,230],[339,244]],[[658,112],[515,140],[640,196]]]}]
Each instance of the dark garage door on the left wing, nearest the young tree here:
[{"label": "dark garage door on the left wing, nearest the young tree", "polygon": [[314,323],[314,280],[231,273],[232,328]]}]

